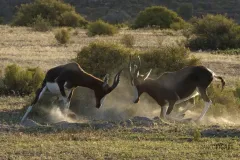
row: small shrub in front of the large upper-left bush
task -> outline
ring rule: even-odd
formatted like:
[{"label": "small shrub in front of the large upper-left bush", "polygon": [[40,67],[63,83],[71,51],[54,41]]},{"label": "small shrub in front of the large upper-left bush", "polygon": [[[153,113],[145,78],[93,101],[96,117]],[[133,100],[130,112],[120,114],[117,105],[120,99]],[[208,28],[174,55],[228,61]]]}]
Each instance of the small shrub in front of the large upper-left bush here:
[{"label": "small shrub in front of the large upper-left bush", "polygon": [[46,32],[51,29],[51,23],[43,19],[41,15],[38,15],[37,18],[35,18],[32,27],[35,31],[40,31],[40,32]]}]

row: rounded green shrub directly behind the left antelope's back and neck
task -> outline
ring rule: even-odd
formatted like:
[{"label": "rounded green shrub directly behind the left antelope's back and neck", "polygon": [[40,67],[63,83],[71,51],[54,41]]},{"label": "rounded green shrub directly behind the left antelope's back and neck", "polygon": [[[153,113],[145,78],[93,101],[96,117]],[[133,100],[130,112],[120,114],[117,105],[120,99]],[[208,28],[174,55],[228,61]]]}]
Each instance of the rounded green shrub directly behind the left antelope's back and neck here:
[{"label": "rounded green shrub directly behind the left antelope's back and neck", "polygon": [[117,44],[95,42],[84,47],[76,62],[87,72],[103,77],[122,68],[129,60],[130,50]]}]

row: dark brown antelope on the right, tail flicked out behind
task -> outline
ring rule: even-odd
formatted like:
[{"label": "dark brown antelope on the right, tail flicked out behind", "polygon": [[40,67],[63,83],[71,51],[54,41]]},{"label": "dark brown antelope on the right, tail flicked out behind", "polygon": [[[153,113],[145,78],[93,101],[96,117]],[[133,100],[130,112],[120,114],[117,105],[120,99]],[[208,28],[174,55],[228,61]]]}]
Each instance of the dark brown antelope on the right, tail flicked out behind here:
[{"label": "dark brown antelope on the right, tail flicked out behind", "polygon": [[[213,71],[204,66],[190,66],[175,72],[165,72],[157,79],[148,78],[151,70],[145,76],[139,76],[140,67],[141,60],[139,58],[139,65],[134,65],[134,70],[132,71],[130,59],[129,72],[136,96],[134,103],[138,103],[142,93],[147,93],[161,106],[160,117],[163,119],[179,120],[169,115],[174,105],[200,94],[205,102],[205,107],[197,120],[202,120],[212,104],[206,92],[207,87],[214,78],[221,80],[222,89],[225,85],[222,77],[217,76]],[[184,109],[180,114],[183,114],[188,109]]]}]

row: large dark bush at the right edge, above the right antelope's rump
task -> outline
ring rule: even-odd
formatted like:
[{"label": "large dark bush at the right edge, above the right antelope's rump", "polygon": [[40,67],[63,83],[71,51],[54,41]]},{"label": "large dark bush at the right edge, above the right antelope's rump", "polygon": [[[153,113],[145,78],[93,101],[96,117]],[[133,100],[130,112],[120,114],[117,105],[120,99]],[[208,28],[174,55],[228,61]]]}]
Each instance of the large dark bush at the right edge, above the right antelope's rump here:
[{"label": "large dark bush at the right edge, above the right antelope's rump", "polygon": [[240,48],[240,26],[223,15],[206,15],[193,21],[193,34],[187,43],[192,50]]}]

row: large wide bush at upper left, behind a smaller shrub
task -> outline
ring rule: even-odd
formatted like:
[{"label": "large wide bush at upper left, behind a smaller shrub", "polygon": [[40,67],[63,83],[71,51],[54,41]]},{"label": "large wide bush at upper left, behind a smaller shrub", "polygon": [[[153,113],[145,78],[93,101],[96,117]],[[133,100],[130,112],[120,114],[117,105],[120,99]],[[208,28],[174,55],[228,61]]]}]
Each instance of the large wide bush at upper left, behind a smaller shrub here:
[{"label": "large wide bush at upper left, behind a smaller shrub", "polygon": [[22,4],[13,19],[17,26],[32,25],[41,16],[52,26],[83,27],[87,21],[75,12],[74,7],[59,0],[36,0],[33,3]]}]

